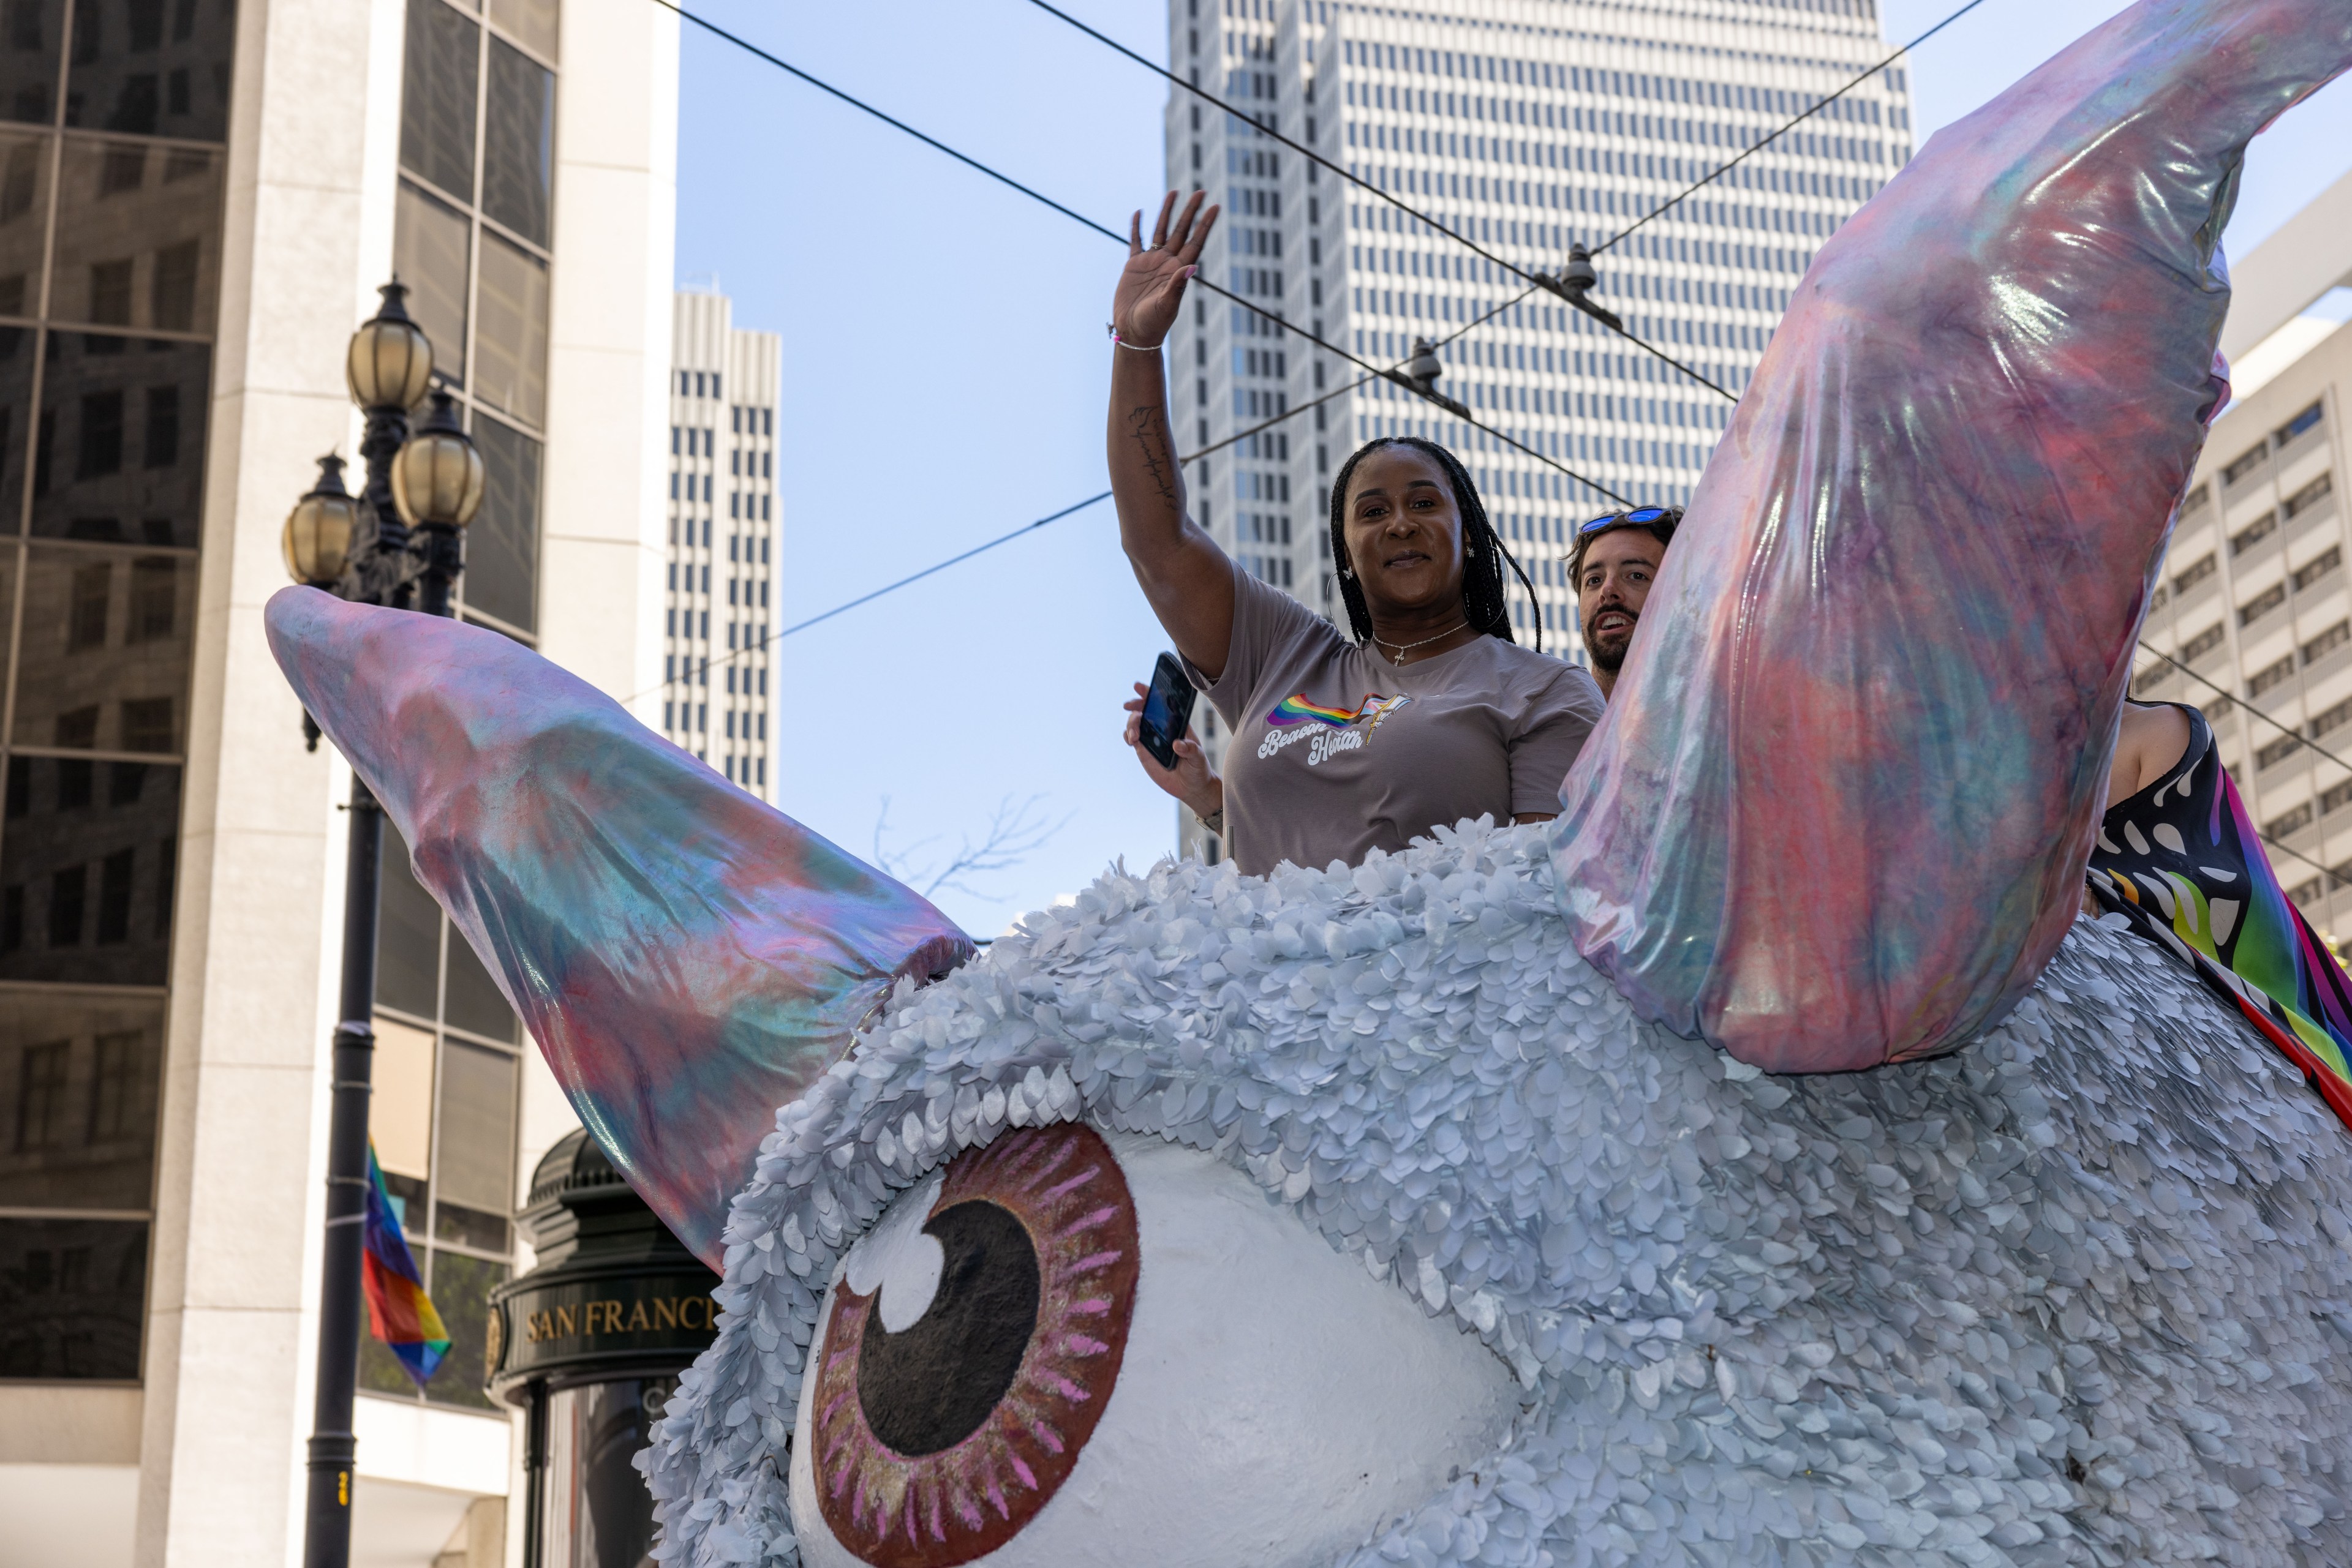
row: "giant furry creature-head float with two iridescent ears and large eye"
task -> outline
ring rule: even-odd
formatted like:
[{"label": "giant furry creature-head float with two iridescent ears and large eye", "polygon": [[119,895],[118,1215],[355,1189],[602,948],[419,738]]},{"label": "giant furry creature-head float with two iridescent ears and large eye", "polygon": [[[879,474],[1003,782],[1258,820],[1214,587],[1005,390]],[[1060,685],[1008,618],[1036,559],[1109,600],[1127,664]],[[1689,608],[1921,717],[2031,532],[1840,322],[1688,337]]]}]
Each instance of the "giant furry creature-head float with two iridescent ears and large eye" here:
[{"label": "giant furry creature-head float with two iridescent ears and large eye", "polygon": [[2074,914],[2239,160],[2347,59],[2345,0],[2147,0],[1938,134],[1550,830],[1115,872],[967,961],[529,651],[280,595],[724,1269],[661,1559],[2352,1561],[2347,1133]]}]

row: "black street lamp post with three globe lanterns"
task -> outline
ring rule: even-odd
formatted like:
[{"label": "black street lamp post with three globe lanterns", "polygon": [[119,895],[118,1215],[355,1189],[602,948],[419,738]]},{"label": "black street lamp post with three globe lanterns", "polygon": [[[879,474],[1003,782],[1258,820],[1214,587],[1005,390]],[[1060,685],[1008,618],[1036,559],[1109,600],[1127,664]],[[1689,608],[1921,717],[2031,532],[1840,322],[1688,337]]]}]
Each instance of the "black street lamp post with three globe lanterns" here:
[{"label": "black street lamp post with three globe lanterns", "polygon": [[[355,604],[447,616],[466,569],[461,531],[482,505],[482,458],[456,423],[447,393],[409,435],[409,411],[433,383],[433,343],[409,320],[400,282],[353,336],[350,400],[367,414],[360,456],[367,484],[343,489],[343,458],[320,458],[318,484],[285,527],[287,571]],[[303,715],[306,733],[318,729]],[[367,1225],[367,1100],[376,1056],[376,879],[383,806],[350,776],[350,851],[343,870],[343,983],[334,1025],[334,1088],[327,1114],[327,1244],[320,1272],[318,1399],[310,1420],[310,1486],[303,1566],[350,1563],[350,1481],[358,1441],[350,1406],[360,1380],[360,1258]]]}]

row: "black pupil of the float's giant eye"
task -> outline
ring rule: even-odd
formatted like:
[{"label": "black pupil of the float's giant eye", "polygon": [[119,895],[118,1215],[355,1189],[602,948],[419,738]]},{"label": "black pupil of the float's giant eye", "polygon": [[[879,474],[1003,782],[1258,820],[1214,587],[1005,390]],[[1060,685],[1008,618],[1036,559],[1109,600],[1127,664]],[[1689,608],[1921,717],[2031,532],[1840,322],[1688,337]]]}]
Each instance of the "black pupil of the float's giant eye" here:
[{"label": "black pupil of the float's giant eye", "polygon": [[1021,1220],[974,1199],[922,1232],[946,1251],[938,1295],[906,1333],[882,1326],[877,1302],[858,1345],[866,1425],[910,1460],[981,1429],[1037,1331],[1037,1248]]}]

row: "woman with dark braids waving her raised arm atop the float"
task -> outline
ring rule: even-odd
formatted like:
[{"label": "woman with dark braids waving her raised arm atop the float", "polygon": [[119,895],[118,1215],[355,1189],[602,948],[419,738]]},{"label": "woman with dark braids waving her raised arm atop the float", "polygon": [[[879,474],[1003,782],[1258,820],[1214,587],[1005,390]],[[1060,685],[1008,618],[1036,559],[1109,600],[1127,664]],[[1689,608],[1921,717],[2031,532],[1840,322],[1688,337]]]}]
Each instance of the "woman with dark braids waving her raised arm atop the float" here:
[{"label": "woman with dark braids waving her raised arm atop the float", "polygon": [[1237,571],[1185,515],[1160,346],[1214,228],[1200,193],[1181,214],[1169,193],[1150,244],[1134,219],[1110,308],[1108,442],[1143,597],[1232,726],[1235,865],[1355,865],[1465,818],[1548,820],[1602,693],[1585,670],[1515,644],[1517,564],[1451,451],[1388,437],[1338,470],[1329,527],[1348,632]]}]

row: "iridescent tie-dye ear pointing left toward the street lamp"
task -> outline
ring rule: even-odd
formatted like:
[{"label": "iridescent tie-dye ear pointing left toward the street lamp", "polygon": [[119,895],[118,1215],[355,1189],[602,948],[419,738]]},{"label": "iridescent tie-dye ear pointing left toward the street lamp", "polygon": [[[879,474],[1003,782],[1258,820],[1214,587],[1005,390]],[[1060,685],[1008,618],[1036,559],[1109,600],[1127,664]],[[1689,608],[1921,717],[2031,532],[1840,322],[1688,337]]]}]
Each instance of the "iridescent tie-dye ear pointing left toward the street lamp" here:
[{"label": "iridescent tie-dye ear pointing left toward the street lamp", "polygon": [[268,635],[581,1121],[717,1267],[776,1107],[971,940],[506,637],[315,588]]}]

